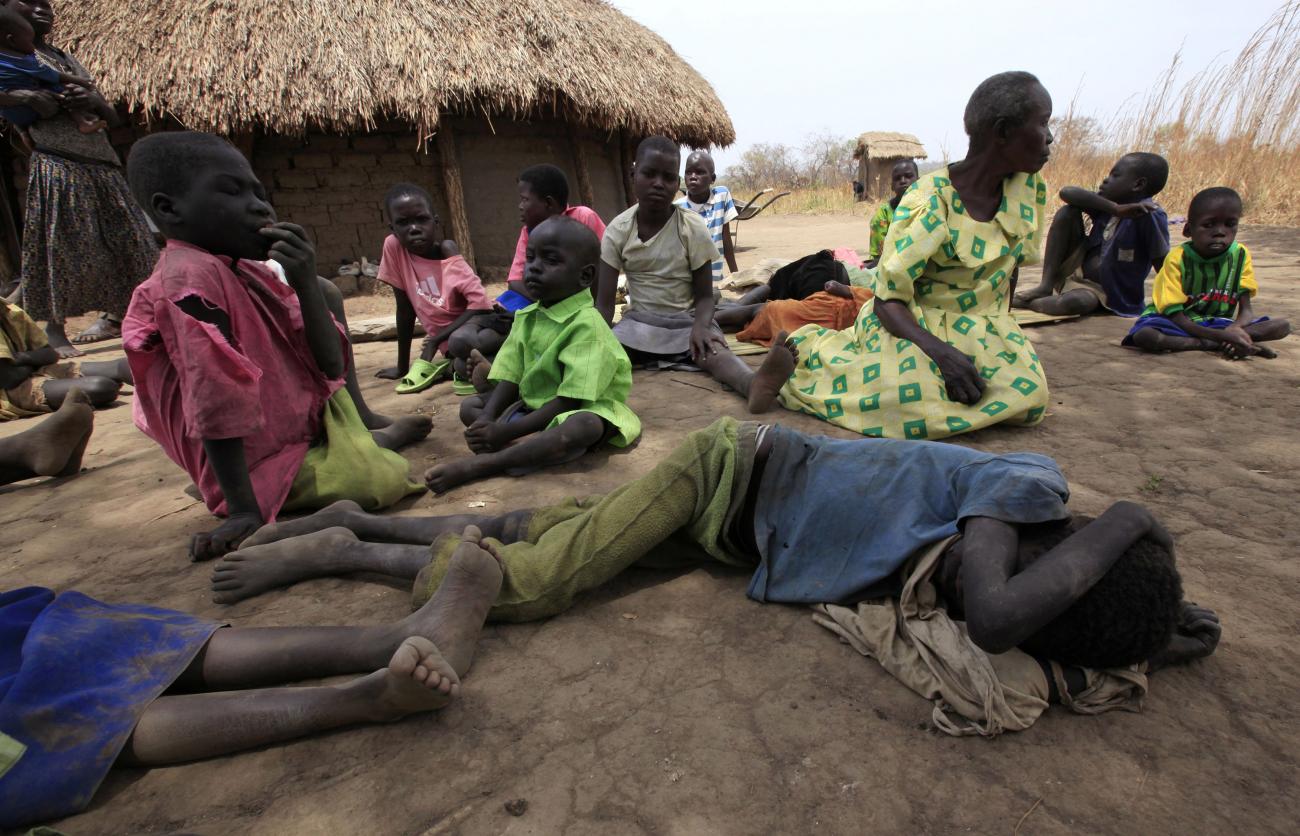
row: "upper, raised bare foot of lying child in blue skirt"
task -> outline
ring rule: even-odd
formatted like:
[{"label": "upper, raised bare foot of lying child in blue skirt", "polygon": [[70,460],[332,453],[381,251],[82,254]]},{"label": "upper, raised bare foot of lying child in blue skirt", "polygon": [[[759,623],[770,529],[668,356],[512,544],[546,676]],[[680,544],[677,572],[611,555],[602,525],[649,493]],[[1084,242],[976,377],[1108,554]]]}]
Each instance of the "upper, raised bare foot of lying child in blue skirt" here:
[{"label": "upper, raised bare foot of lying child in blue skirt", "polygon": [[482,532],[467,525],[451,554],[447,575],[419,610],[396,625],[402,634],[428,636],[459,676],[469,672],[478,632],[497,601],[503,577],[500,555],[482,542]]}]

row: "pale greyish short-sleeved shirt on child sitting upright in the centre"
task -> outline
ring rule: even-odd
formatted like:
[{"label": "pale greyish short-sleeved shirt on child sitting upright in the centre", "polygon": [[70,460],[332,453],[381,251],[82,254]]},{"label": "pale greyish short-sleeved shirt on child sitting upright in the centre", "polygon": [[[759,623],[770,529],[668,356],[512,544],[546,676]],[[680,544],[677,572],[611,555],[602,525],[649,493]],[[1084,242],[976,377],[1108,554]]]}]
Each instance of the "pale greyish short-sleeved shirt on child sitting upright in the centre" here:
[{"label": "pale greyish short-sleeved shirt on child sitting upright in the centre", "polygon": [[601,260],[628,274],[628,311],[692,309],[690,273],[720,257],[703,218],[680,205],[650,241],[637,237],[637,207],[610,221],[601,241]]}]

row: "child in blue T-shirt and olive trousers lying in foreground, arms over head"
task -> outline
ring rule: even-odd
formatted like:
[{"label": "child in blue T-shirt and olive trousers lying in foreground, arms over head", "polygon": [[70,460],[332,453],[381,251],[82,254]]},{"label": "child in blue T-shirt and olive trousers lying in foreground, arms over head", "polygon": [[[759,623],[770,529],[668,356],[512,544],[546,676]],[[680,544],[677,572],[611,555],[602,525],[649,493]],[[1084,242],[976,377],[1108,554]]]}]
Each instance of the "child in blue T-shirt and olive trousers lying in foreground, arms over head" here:
[{"label": "child in blue T-shirt and olive trousers lying in foreground, arms over head", "polygon": [[[845,495],[853,514],[827,511]],[[1136,707],[1143,663],[1186,662],[1218,642],[1214,614],[1183,603],[1173,541],[1150,512],[1119,502],[1096,520],[1072,517],[1067,497],[1060,468],[1036,454],[720,419],[604,497],[497,517],[380,517],[339,503],[269,525],[216,566],[212,588],[229,603],[309,577],[380,572],[413,579],[422,602],[467,524],[504,543],[497,620],[563,612],[632,566],[723,563],[751,572],[751,598],[776,603],[907,603],[926,584],[924,618],[890,610],[897,631],[870,646],[900,676],[927,663],[948,671],[940,692],[966,694],[954,707],[996,733],[1024,728],[1049,701],[1083,712]],[[965,621],[968,640],[927,624],[935,607]],[[1009,655],[1017,647],[1034,658]]]}]

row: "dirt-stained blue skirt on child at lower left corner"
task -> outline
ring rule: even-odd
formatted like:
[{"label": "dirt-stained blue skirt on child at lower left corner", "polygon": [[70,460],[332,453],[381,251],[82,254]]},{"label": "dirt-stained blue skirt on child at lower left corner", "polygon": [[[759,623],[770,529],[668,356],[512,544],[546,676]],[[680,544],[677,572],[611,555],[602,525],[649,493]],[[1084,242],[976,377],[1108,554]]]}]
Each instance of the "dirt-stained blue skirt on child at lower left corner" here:
[{"label": "dirt-stained blue skirt on child at lower left corner", "polygon": [[0,594],[0,732],[27,746],[0,777],[0,828],[86,807],[146,706],[218,627],[75,592]]}]

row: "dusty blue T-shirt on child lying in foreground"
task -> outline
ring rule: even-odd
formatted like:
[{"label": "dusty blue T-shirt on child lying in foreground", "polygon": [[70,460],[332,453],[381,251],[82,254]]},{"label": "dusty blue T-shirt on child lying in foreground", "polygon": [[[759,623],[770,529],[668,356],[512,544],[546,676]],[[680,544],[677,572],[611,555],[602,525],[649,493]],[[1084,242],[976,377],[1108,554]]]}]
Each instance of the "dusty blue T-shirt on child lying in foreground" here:
[{"label": "dusty blue T-shirt on child lying in foreground", "polygon": [[1056,462],[933,441],[837,439],[774,426],[754,507],[762,563],[749,597],[840,603],[888,577],[918,550],[988,516],[1045,523],[1070,516]]}]

